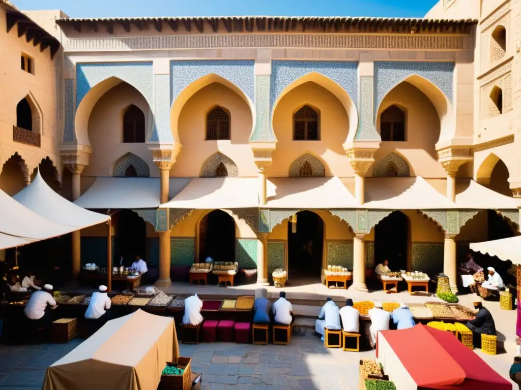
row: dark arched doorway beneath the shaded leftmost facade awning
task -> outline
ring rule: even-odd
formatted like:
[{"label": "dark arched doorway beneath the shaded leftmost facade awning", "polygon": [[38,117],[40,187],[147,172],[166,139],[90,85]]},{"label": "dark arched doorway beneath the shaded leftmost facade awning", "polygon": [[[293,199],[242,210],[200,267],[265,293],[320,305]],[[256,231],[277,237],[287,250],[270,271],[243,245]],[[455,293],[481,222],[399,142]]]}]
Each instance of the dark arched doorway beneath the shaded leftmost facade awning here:
[{"label": "dark arched doorway beneath the shaded leftmost facade awning", "polygon": [[115,244],[125,265],[130,267],[137,255],[146,261],[145,221],[138,214],[125,209],[118,211],[116,218],[118,231]]}]

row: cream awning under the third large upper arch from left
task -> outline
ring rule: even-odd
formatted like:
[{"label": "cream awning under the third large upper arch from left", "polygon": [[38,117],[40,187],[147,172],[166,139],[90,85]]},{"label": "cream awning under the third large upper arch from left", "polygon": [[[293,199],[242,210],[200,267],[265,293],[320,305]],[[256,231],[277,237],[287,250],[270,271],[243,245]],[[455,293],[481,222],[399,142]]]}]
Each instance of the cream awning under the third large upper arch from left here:
[{"label": "cream awning under the third large upper arch from left", "polygon": [[271,209],[351,209],[357,203],[349,179],[338,177],[280,177],[268,181]]}]

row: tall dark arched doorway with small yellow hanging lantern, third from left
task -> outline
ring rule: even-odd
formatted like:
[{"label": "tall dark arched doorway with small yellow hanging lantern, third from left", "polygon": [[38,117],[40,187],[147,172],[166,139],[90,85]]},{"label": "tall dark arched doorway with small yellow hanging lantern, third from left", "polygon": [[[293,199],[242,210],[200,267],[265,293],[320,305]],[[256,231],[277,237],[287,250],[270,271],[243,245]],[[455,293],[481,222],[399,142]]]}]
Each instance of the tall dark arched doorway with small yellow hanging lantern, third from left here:
[{"label": "tall dark arched doorway with small yellow hanging lantern, third from left", "polygon": [[324,253],[324,222],[311,211],[296,215],[296,231],[288,223],[288,273],[291,280],[320,279]]}]

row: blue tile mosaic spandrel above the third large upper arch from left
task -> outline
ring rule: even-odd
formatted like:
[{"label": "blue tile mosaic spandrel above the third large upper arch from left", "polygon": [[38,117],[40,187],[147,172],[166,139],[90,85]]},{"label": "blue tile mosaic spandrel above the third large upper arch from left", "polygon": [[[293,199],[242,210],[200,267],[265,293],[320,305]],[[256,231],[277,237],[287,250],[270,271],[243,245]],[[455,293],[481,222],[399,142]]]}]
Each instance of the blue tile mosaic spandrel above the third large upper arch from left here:
[{"label": "blue tile mosaic spandrel above the third large upper arch from left", "polygon": [[357,67],[355,61],[287,61],[271,62],[270,112],[284,88],[300,77],[320,73],[340,85],[351,97],[355,106],[358,100]]}]

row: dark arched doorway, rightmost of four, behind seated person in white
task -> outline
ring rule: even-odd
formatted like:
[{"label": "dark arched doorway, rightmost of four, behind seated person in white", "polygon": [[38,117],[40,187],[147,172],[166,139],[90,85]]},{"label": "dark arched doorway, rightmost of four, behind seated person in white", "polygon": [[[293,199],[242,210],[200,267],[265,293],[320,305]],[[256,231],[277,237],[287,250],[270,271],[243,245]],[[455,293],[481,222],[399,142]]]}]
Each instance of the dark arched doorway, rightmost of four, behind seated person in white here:
[{"label": "dark arched doorway, rightmost of four, behind seated person in white", "polygon": [[375,263],[385,259],[393,271],[407,270],[409,218],[394,211],[375,226]]}]

